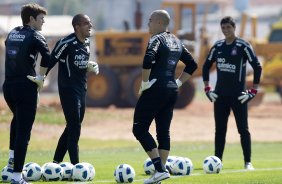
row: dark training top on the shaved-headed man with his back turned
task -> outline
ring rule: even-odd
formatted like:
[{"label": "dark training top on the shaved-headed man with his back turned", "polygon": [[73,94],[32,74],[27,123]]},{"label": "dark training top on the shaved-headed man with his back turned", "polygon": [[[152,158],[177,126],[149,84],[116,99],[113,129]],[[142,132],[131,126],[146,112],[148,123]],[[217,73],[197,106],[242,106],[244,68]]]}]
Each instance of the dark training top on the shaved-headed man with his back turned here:
[{"label": "dark training top on the shaved-headed man with his back turned", "polygon": [[154,88],[177,88],[175,69],[178,61],[185,64],[184,71],[192,75],[197,63],[181,41],[169,32],[151,37],[143,60],[143,68],[151,69],[150,80],[156,78]]}]

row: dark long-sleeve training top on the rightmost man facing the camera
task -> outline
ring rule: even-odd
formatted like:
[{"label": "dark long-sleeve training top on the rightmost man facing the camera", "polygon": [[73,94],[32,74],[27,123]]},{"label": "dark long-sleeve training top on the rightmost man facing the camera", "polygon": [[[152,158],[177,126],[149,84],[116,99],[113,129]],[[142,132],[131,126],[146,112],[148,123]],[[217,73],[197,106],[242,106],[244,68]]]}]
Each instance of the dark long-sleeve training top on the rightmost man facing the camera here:
[{"label": "dark long-sleeve training top on the rightmost man facing the camera", "polygon": [[211,48],[203,65],[203,80],[209,81],[209,70],[215,62],[215,92],[221,96],[238,96],[245,90],[247,61],[254,70],[253,83],[259,84],[262,68],[251,45],[240,38],[231,44],[226,44],[225,39],[219,40]]}]

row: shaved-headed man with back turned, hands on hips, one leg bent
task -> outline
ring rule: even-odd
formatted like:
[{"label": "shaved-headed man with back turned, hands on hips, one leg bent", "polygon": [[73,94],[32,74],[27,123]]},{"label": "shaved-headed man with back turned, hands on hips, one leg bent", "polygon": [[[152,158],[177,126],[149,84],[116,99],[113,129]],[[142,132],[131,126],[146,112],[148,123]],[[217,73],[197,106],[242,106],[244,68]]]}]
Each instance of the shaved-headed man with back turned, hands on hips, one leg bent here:
[{"label": "shaved-headed man with back turned, hands on hips, one leg bent", "polygon": [[[164,168],[170,151],[169,128],[178,88],[196,70],[197,64],[190,52],[176,36],[167,32],[170,21],[165,10],[156,10],[149,19],[149,32],[152,35],[143,60],[141,96],[136,104],[133,134],[151,158],[156,173],[145,184],[158,183],[170,177]],[[178,61],[185,64],[181,76],[175,80]],[[157,141],[149,133],[155,119]]]}]

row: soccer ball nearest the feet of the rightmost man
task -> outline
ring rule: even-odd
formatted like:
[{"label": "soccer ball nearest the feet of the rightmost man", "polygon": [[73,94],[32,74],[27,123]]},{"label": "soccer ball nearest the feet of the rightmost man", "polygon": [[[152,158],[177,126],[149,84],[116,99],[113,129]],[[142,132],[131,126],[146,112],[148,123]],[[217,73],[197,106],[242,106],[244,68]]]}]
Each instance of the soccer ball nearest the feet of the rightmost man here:
[{"label": "soccer ball nearest the feet of the rightmost man", "polygon": [[219,173],[222,169],[221,160],[216,156],[208,156],[204,160],[203,169],[207,174]]}]

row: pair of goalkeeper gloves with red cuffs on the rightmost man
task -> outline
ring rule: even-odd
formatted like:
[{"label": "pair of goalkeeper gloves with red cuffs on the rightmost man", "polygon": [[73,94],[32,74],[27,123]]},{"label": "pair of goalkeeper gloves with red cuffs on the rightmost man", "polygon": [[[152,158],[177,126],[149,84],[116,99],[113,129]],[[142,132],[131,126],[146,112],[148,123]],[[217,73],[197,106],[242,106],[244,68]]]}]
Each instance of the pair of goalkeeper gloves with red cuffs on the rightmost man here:
[{"label": "pair of goalkeeper gloves with red cuffs on the rightmost man", "polygon": [[[258,91],[254,88],[243,91],[241,95],[238,97],[238,100],[241,102],[241,104],[247,103],[256,96],[257,92]],[[218,95],[214,92],[214,90],[210,86],[205,87],[205,93],[211,102],[215,102],[216,99],[218,98]]]}]

